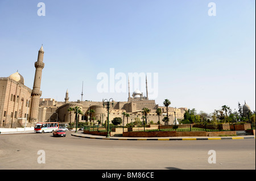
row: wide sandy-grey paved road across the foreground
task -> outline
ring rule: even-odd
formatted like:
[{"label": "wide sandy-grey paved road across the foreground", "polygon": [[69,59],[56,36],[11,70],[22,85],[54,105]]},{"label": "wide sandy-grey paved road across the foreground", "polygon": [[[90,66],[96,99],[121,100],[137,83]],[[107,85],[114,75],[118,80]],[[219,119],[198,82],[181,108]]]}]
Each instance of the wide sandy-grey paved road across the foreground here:
[{"label": "wide sandy-grey paved road across the foreground", "polygon": [[[96,140],[52,133],[0,135],[0,169],[255,170],[255,139],[200,141]],[[44,150],[46,163],[38,163]],[[208,163],[209,150],[216,163]]]}]

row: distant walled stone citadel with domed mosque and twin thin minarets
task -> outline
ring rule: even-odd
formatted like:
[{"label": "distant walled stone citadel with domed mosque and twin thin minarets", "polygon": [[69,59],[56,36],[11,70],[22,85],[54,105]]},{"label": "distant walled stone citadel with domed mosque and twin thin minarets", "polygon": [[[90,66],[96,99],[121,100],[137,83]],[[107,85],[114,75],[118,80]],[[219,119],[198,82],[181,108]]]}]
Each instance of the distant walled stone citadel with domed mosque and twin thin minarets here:
[{"label": "distant walled stone citadel with domed mosque and twin thin minarets", "polygon": [[[147,121],[153,121],[154,123],[158,122],[158,115],[156,115],[156,109],[161,108],[162,114],[160,115],[160,123],[164,124],[162,119],[167,116],[166,107],[159,106],[155,103],[155,100],[148,99],[148,94],[143,96],[142,92],[139,90],[135,90],[130,96],[130,85],[128,81],[129,87],[129,94],[128,94],[128,101],[127,102],[114,102],[113,107],[110,106],[109,111],[109,120],[112,121],[114,117],[121,117],[123,119],[122,112],[129,113],[128,122],[127,117],[125,117],[125,125],[127,123],[131,123],[135,121],[135,119],[143,120],[142,119],[142,109],[147,107],[150,110],[150,113],[147,115]],[[146,79],[146,92],[147,92],[147,79]],[[68,91],[65,94],[64,98],[65,102],[54,102],[54,99],[40,99],[40,118],[39,120],[51,120],[56,121],[58,120],[60,123],[70,123],[75,121],[75,114],[68,111],[69,107],[80,107],[81,111],[84,113],[83,116],[79,116],[79,121],[87,121],[89,118],[88,112],[89,110],[94,110],[95,112],[92,113],[92,117],[100,120],[101,123],[105,123],[107,120],[107,110],[106,107],[103,107],[102,102],[93,102],[93,101],[83,101],[81,102],[78,100],[77,102],[68,102]],[[184,113],[187,111],[187,108],[174,108],[168,107],[168,117],[170,119],[169,124],[174,123],[176,112],[176,119],[183,119]],[[94,123],[97,123],[94,121]]]}]

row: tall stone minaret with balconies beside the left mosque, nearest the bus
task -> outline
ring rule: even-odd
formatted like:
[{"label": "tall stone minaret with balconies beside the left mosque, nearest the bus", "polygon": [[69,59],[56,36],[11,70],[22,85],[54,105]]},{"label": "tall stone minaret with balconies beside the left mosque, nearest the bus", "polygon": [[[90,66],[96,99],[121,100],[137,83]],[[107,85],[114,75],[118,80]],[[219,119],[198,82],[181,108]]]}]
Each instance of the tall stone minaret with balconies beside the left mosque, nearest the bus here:
[{"label": "tall stone minaret with balconies beside the left mosque, nearest the bus", "polygon": [[39,111],[39,100],[42,95],[42,91],[40,91],[41,79],[42,79],[42,70],[44,68],[44,49],[43,45],[38,51],[38,61],[35,62],[35,77],[34,77],[34,85],[31,93],[32,96],[32,105],[31,105],[31,121],[38,121],[38,111]]}]

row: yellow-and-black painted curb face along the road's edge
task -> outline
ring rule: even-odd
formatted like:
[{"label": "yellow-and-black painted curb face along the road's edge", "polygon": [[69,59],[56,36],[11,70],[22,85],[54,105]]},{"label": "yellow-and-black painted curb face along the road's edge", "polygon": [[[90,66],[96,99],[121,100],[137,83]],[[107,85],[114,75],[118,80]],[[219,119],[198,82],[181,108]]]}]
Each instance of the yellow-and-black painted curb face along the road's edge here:
[{"label": "yellow-and-black painted curb face along the road's edge", "polygon": [[93,136],[85,136],[81,134],[71,134],[76,137],[90,138],[90,139],[100,139],[100,140],[131,140],[131,141],[181,141],[181,140],[246,140],[246,139],[255,139],[255,136],[250,137],[213,137],[213,138],[117,138],[117,137],[93,137]]}]

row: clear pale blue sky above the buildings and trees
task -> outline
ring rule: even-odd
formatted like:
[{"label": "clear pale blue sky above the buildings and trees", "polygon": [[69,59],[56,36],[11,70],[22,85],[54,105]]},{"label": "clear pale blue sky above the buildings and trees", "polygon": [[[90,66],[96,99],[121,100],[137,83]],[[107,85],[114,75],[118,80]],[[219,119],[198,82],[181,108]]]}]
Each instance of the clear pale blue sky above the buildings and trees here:
[{"label": "clear pale blue sky above the buildings and trees", "polygon": [[[46,16],[38,16],[39,2]],[[209,16],[209,2],[216,16]],[[126,101],[97,91],[99,73],[158,73],[156,103],[208,113],[255,110],[255,1],[0,0],[0,77],[32,89],[43,44],[42,98]]]}]

